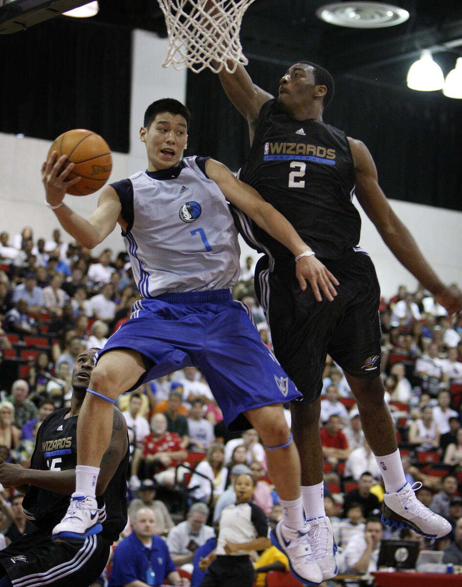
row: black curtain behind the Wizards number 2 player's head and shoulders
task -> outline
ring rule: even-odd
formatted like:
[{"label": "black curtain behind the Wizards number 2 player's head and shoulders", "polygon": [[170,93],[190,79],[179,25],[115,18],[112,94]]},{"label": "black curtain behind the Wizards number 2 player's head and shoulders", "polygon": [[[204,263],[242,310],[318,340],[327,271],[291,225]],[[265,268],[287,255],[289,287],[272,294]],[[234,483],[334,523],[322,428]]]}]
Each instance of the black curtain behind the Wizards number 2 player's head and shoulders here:
[{"label": "black curtain behind the Wizards number 2 player's head and shoulders", "polygon": [[[286,68],[249,60],[253,82],[277,94]],[[334,75],[334,100],[324,121],[364,141],[389,198],[462,210],[462,100]],[[188,70],[192,113],[188,154],[212,156],[236,171],[249,153],[247,124],[218,76]]]}]

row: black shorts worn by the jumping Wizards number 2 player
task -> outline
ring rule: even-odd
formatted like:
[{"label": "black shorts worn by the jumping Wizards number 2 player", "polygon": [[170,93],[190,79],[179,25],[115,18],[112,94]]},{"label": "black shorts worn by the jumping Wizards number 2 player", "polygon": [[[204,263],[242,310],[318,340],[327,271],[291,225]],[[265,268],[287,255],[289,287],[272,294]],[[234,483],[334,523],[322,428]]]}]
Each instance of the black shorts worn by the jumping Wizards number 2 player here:
[{"label": "black shorts worn by the jumping Wizards number 2 player", "polygon": [[318,302],[309,284],[301,291],[293,265],[270,272],[262,257],[256,268],[256,292],[267,308],[274,354],[306,402],[321,393],[327,353],[354,377],[381,372],[380,287],[371,258],[354,249],[322,262],[339,281],[333,302],[324,295]]}]

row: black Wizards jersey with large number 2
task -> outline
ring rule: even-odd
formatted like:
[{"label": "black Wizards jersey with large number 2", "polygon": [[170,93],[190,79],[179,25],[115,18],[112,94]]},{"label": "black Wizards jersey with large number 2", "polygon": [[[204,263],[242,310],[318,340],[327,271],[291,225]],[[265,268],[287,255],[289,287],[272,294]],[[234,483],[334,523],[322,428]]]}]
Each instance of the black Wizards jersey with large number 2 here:
[{"label": "black Wizards jersey with large number 2", "polygon": [[[263,104],[240,180],[283,214],[317,257],[338,259],[359,242],[361,218],[352,204],[355,170],[346,134],[320,120],[295,120]],[[270,257],[293,255],[233,207],[247,244]]]}]

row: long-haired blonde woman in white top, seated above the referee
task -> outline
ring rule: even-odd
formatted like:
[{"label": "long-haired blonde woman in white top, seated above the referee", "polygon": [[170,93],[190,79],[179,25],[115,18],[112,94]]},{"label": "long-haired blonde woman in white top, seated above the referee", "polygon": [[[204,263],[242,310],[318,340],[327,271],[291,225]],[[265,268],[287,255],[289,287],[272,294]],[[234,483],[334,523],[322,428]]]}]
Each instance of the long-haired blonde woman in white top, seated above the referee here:
[{"label": "long-haired blonde woman in white top, seated above the referee", "polygon": [[189,495],[195,500],[208,502],[213,507],[225,491],[226,478],[225,447],[223,444],[212,443],[206,458],[196,465],[191,475],[188,487],[192,491]]}]

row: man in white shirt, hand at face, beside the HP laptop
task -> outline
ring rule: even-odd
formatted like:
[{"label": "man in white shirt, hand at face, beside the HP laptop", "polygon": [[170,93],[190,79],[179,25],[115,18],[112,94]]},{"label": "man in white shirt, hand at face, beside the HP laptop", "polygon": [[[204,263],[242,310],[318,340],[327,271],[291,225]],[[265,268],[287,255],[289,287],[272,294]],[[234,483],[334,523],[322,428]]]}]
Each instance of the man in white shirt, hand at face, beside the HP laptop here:
[{"label": "man in white shirt, hand at face, beside the HP laptop", "polygon": [[376,571],[382,534],[380,518],[376,516],[367,518],[364,532],[355,534],[345,546],[344,571],[349,573]]}]

